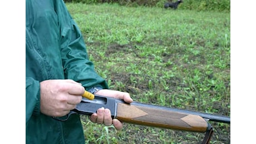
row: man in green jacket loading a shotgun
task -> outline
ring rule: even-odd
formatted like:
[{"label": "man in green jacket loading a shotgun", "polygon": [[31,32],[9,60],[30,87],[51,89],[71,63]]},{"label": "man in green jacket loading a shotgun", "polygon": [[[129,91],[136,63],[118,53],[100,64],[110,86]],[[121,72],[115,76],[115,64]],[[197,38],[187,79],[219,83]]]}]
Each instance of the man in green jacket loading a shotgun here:
[{"label": "man in green jacket loading a shotgun", "polygon": [[[26,143],[85,143],[79,115],[56,120],[80,103],[85,90],[132,102],[127,92],[109,90],[95,72],[62,0],[26,0]],[[109,109],[97,110],[90,120],[122,128]]]}]

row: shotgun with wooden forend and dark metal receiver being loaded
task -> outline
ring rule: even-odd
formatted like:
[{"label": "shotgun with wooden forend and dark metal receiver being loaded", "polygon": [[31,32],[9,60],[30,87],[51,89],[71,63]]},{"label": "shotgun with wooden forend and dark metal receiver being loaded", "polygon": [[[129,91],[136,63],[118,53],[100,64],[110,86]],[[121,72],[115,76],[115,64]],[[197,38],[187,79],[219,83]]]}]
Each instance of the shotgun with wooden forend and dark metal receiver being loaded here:
[{"label": "shotgun with wooden forend and dark metal receiver being loaded", "polygon": [[118,119],[135,125],[168,128],[172,130],[206,132],[203,143],[209,143],[213,127],[208,121],[230,124],[230,117],[207,114],[190,110],[176,109],[160,105],[132,102],[95,95],[95,99],[83,98],[73,111],[78,114],[91,115],[101,107],[110,109],[112,119]]}]

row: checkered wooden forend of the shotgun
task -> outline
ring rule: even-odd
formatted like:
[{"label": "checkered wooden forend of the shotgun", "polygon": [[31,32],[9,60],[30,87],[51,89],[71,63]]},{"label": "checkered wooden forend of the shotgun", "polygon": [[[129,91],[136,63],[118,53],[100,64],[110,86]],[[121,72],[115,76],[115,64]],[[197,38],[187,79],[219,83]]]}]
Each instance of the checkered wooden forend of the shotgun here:
[{"label": "checkered wooden forend of the shotgun", "polygon": [[193,132],[205,132],[208,126],[198,115],[122,103],[117,104],[116,119],[130,124]]}]

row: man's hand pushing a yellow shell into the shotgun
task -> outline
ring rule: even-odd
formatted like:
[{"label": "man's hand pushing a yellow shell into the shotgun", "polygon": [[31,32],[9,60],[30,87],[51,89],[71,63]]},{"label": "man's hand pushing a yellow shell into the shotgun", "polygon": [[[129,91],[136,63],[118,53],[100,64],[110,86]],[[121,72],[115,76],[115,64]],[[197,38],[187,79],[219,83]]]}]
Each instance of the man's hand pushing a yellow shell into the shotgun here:
[{"label": "man's hand pushing a yellow shell into the shotgun", "polygon": [[85,88],[73,80],[45,80],[40,83],[40,110],[48,116],[61,117],[75,109]]}]

